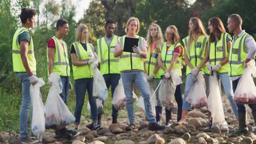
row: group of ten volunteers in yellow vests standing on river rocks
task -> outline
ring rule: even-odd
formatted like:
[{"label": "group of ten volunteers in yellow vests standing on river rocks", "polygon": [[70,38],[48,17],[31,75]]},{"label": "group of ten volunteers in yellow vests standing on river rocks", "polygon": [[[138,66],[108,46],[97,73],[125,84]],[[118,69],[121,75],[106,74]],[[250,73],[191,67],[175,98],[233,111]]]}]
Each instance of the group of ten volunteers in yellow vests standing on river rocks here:
[{"label": "group of ten volunteers in yellow vests standing on river rocks", "polygon": [[[34,57],[33,40],[29,28],[34,26],[36,11],[24,8],[21,10],[20,19],[22,25],[16,30],[13,37],[13,68],[22,82],[22,105],[20,110],[20,139],[31,141],[28,137],[27,122],[28,111],[31,107],[30,85],[35,85],[38,81],[36,76],[36,59]],[[238,81],[249,61],[254,59],[256,44],[253,37],[242,31],[242,19],[237,14],[228,17],[228,30],[233,33],[226,33],[223,22],[218,17],[213,17],[208,21],[210,36],[206,34],[202,22],[197,17],[189,20],[188,37],[181,39],[176,26],[171,25],[166,28],[164,38],[161,28],[153,23],[149,26],[147,39],[138,35],[139,20],[130,17],[126,23],[125,35],[118,37],[114,35],[115,22],[107,20],[105,25],[106,34],[97,39],[97,48],[89,43],[89,28],[81,23],[75,33],[75,42],[70,46],[72,57],[73,77],[75,80],[74,89],[76,95],[76,105],[74,111],[75,128],[56,129],[56,135],[66,137],[79,132],[80,117],[84,105],[85,93],[87,90],[91,107],[92,123],[87,127],[91,130],[101,128],[102,114],[97,111],[96,99],[92,97],[94,75],[91,68],[98,67],[104,77],[107,88],[111,86],[112,98],[119,80],[123,81],[124,93],[126,97],[126,109],[129,117],[129,126],[126,130],[135,128],[135,112],[133,109],[134,100],[132,98],[133,83],[141,92],[144,100],[146,117],[149,122],[149,130],[163,130],[166,127],[174,127],[185,123],[191,104],[186,100],[191,87],[196,82],[196,76],[200,71],[206,86],[206,95],[210,93],[210,74],[213,71],[218,73],[219,79],[223,83],[225,93],[228,97],[235,117],[238,119],[239,127],[234,134],[248,133],[246,125],[246,107],[244,104],[234,102],[234,92]],[[68,46],[62,38],[69,32],[68,21],[60,19],[56,22],[56,35],[47,44],[48,75],[57,73],[61,77],[62,93],[60,97],[66,103],[68,89],[72,89],[69,79],[70,68],[68,60]],[[133,52],[124,51],[125,38],[137,38],[138,45],[129,47]],[[150,100],[149,82],[153,89],[157,87],[161,80],[171,80],[171,71],[177,70],[182,77],[182,58],[184,57],[186,67],[185,92],[182,97],[182,84],[176,86],[174,93],[178,104],[177,123],[171,123],[171,110],[165,109],[166,125],[160,124],[162,115],[162,101],[156,92],[155,113]],[[254,60],[252,60],[254,61]],[[51,85],[51,83],[49,83]],[[232,87],[231,87],[232,86]],[[104,104],[104,101],[102,101]],[[254,122],[256,121],[256,104],[249,104],[252,109]],[[112,123],[118,123],[118,110],[112,105]],[[211,112],[208,113],[209,122]],[[256,123],[256,122],[255,122]],[[256,132],[256,131],[255,131]]]}]

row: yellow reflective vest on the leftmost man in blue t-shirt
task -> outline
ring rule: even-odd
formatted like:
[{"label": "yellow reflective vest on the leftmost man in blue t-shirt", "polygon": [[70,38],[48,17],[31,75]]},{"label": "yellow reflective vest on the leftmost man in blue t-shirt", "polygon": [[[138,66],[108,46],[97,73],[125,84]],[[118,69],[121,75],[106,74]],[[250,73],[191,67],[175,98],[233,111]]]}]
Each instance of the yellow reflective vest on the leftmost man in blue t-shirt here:
[{"label": "yellow reflective vest on the leftmost man in blue t-shirt", "polygon": [[[13,71],[14,72],[26,72],[26,69],[21,60],[20,44],[19,44],[19,35],[24,32],[28,32],[27,29],[25,27],[20,27],[16,30],[13,36],[12,55],[13,55]],[[32,37],[30,37],[30,44],[28,45],[27,58],[28,58],[28,65],[30,66],[31,71],[36,72],[37,62],[36,62],[36,58],[34,58],[34,47],[33,47]]]}]

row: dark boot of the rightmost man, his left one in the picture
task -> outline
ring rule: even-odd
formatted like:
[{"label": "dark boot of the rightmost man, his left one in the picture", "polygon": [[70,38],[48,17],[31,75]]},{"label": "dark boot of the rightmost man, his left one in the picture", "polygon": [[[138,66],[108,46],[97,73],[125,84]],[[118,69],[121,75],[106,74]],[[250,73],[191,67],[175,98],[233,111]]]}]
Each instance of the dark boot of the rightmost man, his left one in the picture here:
[{"label": "dark boot of the rightmost man, his left one in the picture", "polygon": [[248,134],[248,128],[246,126],[246,113],[238,112],[238,129],[231,134],[237,136],[242,134]]}]

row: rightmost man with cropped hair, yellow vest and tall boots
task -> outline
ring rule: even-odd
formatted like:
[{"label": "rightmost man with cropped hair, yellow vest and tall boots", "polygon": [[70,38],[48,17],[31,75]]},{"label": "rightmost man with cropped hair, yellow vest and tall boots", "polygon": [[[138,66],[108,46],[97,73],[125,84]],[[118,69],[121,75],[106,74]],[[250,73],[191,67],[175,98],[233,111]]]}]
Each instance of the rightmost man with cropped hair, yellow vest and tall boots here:
[{"label": "rightmost man with cropped hair, yellow vest and tall boots", "polygon": [[[233,91],[241,78],[241,75],[248,67],[249,62],[254,61],[256,54],[256,43],[251,35],[242,30],[242,18],[240,15],[232,14],[228,17],[228,29],[230,33],[234,33],[232,47],[229,54],[229,76],[232,81]],[[244,104],[236,104],[238,108],[238,130],[234,135],[247,134],[248,128],[246,125],[247,112]],[[252,109],[254,123],[256,123],[256,104],[248,104]],[[256,130],[254,131],[256,134]]]}]

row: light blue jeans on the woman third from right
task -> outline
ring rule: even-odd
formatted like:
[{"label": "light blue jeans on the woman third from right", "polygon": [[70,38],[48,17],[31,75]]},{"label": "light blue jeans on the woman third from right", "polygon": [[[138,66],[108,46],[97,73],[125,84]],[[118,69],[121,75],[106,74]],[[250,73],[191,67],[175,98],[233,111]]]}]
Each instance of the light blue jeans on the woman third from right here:
[{"label": "light blue jeans on the woman third from right", "polygon": [[[204,74],[203,75],[205,79],[205,86],[206,86],[206,96],[208,97],[210,94],[210,75]],[[185,92],[184,92],[184,98],[183,98],[183,104],[182,104],[182,110],[190,110],[191,109],[191,104],[188,103],[187,97],[188,93],[191,89],[191,87],[194,85],[195,81],[193,81],[193,76],[192,74],[188,74],[185,82]]]}]

